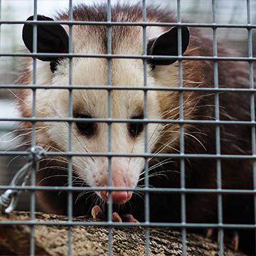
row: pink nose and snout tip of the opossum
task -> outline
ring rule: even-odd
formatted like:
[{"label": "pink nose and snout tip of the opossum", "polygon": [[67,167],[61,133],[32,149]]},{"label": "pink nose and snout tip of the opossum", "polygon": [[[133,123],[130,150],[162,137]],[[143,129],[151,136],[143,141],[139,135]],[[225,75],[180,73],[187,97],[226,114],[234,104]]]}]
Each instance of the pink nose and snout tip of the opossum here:
[{"label": "pink nose and snout tip of the opossum", "polygon": [[[100,182],[100,186],[107,186],[107,177],[105,176]],[[126,174],[126,171],[122,168],[114,168],[112,170],[112,187],[113,188],[131,188],[129,177]],[[127,203],[132,198],[132,191],[112,191],[111,193],[108,191],[100,191],[100,198],[103,201],[107,202],[109,196],[112,197],[112,203],[116,203],[122,205]]]}]

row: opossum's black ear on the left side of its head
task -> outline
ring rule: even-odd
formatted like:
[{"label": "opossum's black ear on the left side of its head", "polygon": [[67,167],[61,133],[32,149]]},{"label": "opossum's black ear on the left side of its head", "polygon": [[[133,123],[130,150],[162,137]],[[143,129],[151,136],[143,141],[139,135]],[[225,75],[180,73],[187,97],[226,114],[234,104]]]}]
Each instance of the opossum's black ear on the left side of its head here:
[{"label": "opossum's black ear on the left side of its head", "polygon": [[[38,21],[53,21],[53,18],[38,15]],[[33,21],[30,16],[27,21]],[[33,53],[33,24],[25,24],[22,31],[22,39],[26,48]],[[68,53],[68,34],[60,24],[37,25],[37,53]],[[54,72],[60,57],[41,55],[38,60],[50,61],[50,69]]]}]

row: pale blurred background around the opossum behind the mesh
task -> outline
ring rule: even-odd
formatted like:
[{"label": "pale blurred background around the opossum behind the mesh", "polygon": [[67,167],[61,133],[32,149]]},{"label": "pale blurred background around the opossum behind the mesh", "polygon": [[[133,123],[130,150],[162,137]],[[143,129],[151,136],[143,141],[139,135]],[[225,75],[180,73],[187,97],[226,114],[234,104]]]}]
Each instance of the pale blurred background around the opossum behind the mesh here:
[{"label": "pale blurred background around the opossum behind the mesh", "polygon": [[[99,1],[73,0],[74,5],[79,3],[92,4],[93,2]],[[114,4],[114,2],[113,0],[112,3]],[[123,1],[119,0],[119,2]],[[216,22],[247,23],[246,2],[246,0],[216,0]],[[68,9],[68,3],[68,0],[38,0],[38,14],[54,16],[56,11]],[[165,9],[174,11],[174,13],[176,12],[176,0],[147,0],[147,4],[160,5]],[[251,23],[255,24],[256,0],[250,1],[250,11]],[[33,0],[0,0],[0,21],[25,21],[32,14]],[[181,14],[183,21],[211,23],[213,22],[212,1],[181,0]],[[23,42],[21,41],[22,26],[0,23],[0,53],[18,53],[23,49]],[[212,36],[211,28],[201,28],[201,31],[207,36]],[[255,30],[252,31],[255,38]],[[218,28],[217,36],[218,44],[233,49],[234,53],[239,52],[247,56],[247,30],[245,28]],[[0,57],[0,84],[10,85],[14,83],[19,65],[20,60],[17,57]],[[0,118],[3,117],[18,117],[14,95],[11,90],[0,89]],[[18,142],[13,133],[10,132],[17,128],[17,123],[0,122],[0,151],[15,149]],[[6,157],[0,154],[0,185],[9,184],[11,177],[21,168],[24,162],[22,157]],[[26,201],[24,197],[21,199],[19,209],[26,208]]]}]

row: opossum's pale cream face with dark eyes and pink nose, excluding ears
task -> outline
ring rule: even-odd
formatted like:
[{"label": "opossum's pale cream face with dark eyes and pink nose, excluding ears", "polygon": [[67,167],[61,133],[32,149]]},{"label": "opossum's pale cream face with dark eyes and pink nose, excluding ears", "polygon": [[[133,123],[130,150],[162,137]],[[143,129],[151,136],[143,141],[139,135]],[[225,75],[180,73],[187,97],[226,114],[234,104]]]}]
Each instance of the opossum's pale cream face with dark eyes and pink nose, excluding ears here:
[{"label": "opossum's pale cream face with dark eyes and pink nose, excluding ears", "polygon": [[[89,63],[90,65],[88,65]],[[63,68],[64,67],[63,63]],[[80,122],[73,123],[72,149],[75,152],[114,154],[144,154],[145,130],[147,130],[147,151],[152,152],[161,131],[161,125],[150,123],[145,128],[140,122],[113,122],[111,128],[104,122],[90,122],[90,119],[107,119],[108,101],[112,119],[144,119],[144,92],[142,90],[114,90],[115,85],[131,84],[134,87],[143,86],[142,60],[117,60],[112,62],[113,90],[110,98],[107,90],[73,90],[73,117],[80,118]],[[68,68],[68,67],[66,67]],[[97,73],[87,75],[91,70]],[[125,78],[125,80],[124,80]],[[68,84],[68,75],[58,75],[54,79],[56,84]],[[149,79],[149,85],[154,82]],[[78,59],[74,63],[73,84],[106,85],[107,61]],[[106,86],[107,87],[107,86]],[[156,92],[147,94],[149,119],[161,119],[159,101]],[[38,90],[38,116],[68,117],[68,91],[65,90]],[[68,150],[68,125],[65,123],[46,123],[48,129],[42,131],[38,140],[42,144],[51,144],[61,151]],[[45,133],[45,134],[43,134]],[[111,146],[109,146],[109,137]],[[46,142],[48,141],[48,142]],[[112,185],[114,187],[135,188],[140,178],[144,178],[143,157],[112,157]],[[110,165],[107,157],[73,157],[73,169],[92,187],[108,185]],[[101,191],[99,196],[107,201],[107,192]],[[114,203],[129,201],[132,192],[114,191]]]}]

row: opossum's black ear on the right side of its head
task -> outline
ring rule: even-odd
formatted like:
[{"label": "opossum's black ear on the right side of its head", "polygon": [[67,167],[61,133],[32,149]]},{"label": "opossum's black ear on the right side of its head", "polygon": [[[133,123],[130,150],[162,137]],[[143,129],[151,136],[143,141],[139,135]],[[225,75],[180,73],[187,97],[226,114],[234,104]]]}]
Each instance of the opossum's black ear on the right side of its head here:
[{"label": "opossum's black ear on the right side of its head", "polygon": [[[186,27],[181,28],[181,50],[182,54],[188,48],[189,43],[189,30]],[[158,38],[149,41],[147,47],[148,55],[174,55],[178,56],[178,28],[171,28],[166,33],[162,34]],[[154,68],[156,65],[171,65],[176,62],[176,58],[173,59],[150,59],[148,63]]]}]

